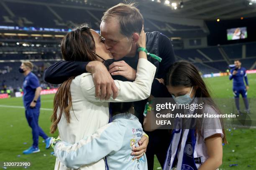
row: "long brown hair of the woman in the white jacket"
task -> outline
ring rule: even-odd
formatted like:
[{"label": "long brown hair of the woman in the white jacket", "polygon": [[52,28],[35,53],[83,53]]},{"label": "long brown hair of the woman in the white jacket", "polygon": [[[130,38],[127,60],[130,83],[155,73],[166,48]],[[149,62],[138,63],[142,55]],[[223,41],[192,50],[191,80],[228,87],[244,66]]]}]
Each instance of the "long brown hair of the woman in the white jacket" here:
[{"label": "long brown hair of the woman in the white jacket", "polygon": [[[87,25],[75,28],[61,40],[61,54],[66,61],[93,61],[97,60],[95,55],[95,41]],[[54,96],[54,112],[51,115],[51,131],[54,133],[61,120],[62,112],[65,113],[67,122],[70,122],[72,108],[72,97],[70,85],[74,77],[64,81]],[[59,110],[59,115],[57,115]]]}]

